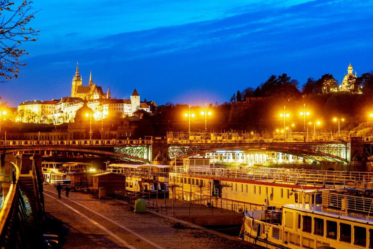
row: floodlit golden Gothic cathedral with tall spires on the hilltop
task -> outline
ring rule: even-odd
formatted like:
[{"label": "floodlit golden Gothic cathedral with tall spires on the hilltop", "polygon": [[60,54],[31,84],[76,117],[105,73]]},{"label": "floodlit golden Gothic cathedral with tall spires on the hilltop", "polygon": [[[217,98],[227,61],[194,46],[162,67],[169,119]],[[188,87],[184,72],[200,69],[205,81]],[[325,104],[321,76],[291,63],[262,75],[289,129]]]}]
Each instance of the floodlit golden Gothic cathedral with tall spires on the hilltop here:
[{"label": "floodlit golden Gothic cathedral with tall spires on the hilltop", "polygon": [[82,98],[83,100],[95,100],[98,98],[110,98],[110,89],[108,89],[107,94],[102,91],[101,86],[97,86],[93,83],[92,72],[90,73],[90,81],[88,86],[83,86],[83,79],[79,73],[79,65],[76,63],[75,76],[72,79],[71,86],[71,97],[72,98]]}]

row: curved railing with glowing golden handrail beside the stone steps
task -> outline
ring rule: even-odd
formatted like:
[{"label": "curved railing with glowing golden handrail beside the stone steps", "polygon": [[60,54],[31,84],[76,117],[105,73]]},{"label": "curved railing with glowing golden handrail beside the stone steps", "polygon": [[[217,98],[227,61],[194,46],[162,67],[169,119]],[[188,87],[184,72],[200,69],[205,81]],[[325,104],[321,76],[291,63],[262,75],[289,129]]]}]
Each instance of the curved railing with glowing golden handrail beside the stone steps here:
[{"label": "curved railing with glowing golden handrail beside the stone steps", "polygon": [[20,170],[15,164],[10,164],[13,175],[0,210],[0,248],[28,248],[24,233],[26,209],[18,182]]}]

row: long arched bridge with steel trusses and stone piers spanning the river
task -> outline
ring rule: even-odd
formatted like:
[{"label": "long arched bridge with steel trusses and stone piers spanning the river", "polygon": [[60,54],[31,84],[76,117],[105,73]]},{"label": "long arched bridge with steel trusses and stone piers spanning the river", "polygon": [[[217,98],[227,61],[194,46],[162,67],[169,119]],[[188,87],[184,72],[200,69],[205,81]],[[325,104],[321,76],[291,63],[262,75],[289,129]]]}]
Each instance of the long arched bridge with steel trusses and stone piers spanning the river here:
[{"label": "long arched bridge with steel trusses and stone piers spanning the river", "polygon": [[[5,154],[51,152],[112,157],[134,163],[178,160],[216,151],[273,151],[314,161],[346,163],[366,152],[373,155],[373,138],[350,138],[339,133],[167,132],[146,139],[10,140],[0,141]],[[352,145],[351,145],[352,144]]]}]

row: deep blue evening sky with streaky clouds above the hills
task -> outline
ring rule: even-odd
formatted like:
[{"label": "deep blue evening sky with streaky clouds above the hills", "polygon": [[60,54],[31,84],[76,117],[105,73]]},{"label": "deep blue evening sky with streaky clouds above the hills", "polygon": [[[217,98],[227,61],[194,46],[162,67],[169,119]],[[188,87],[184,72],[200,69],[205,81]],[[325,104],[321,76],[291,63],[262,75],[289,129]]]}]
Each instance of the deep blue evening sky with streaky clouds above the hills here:
[{"label": "deep blue evening sky with streaky clouds above the hills", "polygon": [[35,1],[28,64],[0,83],[10,106],[70,95],[76,61],[88,85],[112,97],[184,104],[223,103],[269,75],[303,84],[351,62],[373,69],[373,1]]}]

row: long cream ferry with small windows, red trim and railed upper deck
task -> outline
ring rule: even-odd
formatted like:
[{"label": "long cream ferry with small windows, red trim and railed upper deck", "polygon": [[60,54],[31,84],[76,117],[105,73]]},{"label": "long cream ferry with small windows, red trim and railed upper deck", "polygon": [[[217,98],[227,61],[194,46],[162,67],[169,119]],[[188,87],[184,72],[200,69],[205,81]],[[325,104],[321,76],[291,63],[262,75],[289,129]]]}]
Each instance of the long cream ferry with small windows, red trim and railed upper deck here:
[{"label": "long cream ferry with small windows, red trim and railed upper deck", "polygon": [[206,205],[243,212],[295,204],[295,196],[303,198],[306,194],[316,199],[317,191],[323,188],[372,189],[373,184],[369,173],[212,167],[205,159],[185,158],[183,166],[174,166],[169,182],[178,185],[177,198],[203,199]]}]

